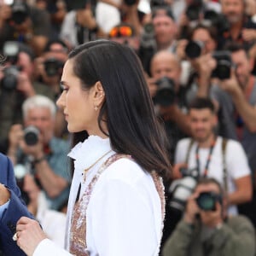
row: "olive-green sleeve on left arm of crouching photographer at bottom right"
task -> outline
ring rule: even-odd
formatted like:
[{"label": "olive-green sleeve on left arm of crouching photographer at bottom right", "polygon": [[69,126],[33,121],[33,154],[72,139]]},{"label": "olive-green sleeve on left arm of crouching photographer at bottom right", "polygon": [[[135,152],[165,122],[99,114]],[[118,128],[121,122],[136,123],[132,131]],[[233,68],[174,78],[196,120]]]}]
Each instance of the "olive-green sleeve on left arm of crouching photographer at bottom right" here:
[{"label": "olive-green sleeve on left arm of crouching photographer at bottom right", "polygon": [[163,247],[163,256],[184,256],[188,254],[193,239],[193,228],[181,220]]}]

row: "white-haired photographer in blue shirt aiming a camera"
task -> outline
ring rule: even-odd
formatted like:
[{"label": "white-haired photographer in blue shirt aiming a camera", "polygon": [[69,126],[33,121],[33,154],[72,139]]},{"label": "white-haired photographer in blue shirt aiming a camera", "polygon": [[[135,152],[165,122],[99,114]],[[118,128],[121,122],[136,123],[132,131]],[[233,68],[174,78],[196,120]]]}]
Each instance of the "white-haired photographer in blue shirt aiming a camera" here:
[{"label": "white-haired photographer in blue shirt aiming a camera", "polygon": [[9,132],[8,155],[14,165],[38,178],[51,209],[59,209],[69,192],[67,141],[54,137],[55,104],[46,96],[32,96],[23,103],[24,126]]}]

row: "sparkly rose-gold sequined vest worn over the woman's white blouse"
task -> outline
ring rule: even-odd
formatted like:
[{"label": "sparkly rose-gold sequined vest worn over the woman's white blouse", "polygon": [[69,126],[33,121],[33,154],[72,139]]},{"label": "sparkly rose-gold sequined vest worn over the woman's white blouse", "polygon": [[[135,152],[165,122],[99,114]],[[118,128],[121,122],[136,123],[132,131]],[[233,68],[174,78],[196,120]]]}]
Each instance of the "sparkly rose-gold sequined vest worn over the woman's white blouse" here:
[{"label": "sparkly rose-gold sequined vest worn over the woman's white blouse", "polygon": [[[96,175],[90,181],[88,187],[84,190],[84,194],[81,196],[79,201],[75,204],[73,208],[73,216],[71,219],[71,230],[70,230],[70,248],[69,251],[73,255],[76,256],[89,256],[90,253],[87,250],[86,246],[86,210],[89,205],[90,195],[94,189],[94,186],[101,176],[102,172],[104,172],[108,166],[113,164],[116,160],[121,158],[131,158],[131,155],[128,154],[113,154],[106,160],[102,166],[99,168]],[[163,221],[165,218],[165,192],[164,186],[162,183],[161,177],[156,172],[152,172],[151,176],[154,180],[155,188],[157,189],[158,194],[160,195],[161,202],[161,212],[162,212],[162,229],[163,229]]]}]

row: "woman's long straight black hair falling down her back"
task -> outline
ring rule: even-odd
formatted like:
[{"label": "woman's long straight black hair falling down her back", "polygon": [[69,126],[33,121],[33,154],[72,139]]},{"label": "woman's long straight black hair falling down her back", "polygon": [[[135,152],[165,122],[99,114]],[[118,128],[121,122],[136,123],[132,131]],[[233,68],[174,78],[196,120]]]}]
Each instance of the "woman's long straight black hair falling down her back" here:
[{"label": "woman's long straight black hair falling down her back", "polygon": [[[98,124],[107,123],[113,150],[131,154],[147,172],[169,177],[166,131],[154,113],[154,106],[135,52],[128,46],[108,40],[81,44],[69,54],[73,73],[84,90],[102,83],[105,102]],[[86,131],[73,134],[73,145],[88,137]]]}]

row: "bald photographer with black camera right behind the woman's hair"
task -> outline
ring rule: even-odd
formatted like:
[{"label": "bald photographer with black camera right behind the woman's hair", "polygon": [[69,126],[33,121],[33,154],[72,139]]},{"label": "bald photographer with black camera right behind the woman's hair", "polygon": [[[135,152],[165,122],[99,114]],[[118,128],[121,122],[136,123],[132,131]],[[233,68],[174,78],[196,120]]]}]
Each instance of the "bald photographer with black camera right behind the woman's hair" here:
[{"label": "bald photographer with black camera right behind the woman's hair", "polygon": [[149,86],[157,113],[164,120],[166,131],[172,142],[171,159],[177,140],[189,135],[187,119],[187,91],[180,86],[181,65],[177,56],[162,50],[157,52],[150,63],[152,79]]}]

